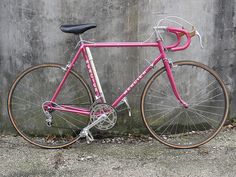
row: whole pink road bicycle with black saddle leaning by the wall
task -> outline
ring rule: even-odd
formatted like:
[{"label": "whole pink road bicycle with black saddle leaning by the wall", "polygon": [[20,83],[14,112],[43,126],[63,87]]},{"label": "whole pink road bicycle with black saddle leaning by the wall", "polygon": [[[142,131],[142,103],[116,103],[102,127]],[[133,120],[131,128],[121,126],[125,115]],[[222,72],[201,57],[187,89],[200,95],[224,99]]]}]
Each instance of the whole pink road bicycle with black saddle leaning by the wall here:
[{"label": "whole pink road bicycle with black saddle leaning by the wall", "polygon": [[[167,18],[166,18],[167,19]],[[170,19],[170,18],[169,18]],[[17,132],[30,143],[43,148],[62,148],[79,138],[93,141],[91,128],[111,129],[117,121],[116,109],[125,106],[131,116],[127,95],[162,61],[144,87],[140,109],[145,126],[161,143],[174,148],[193,148],[211,140],[223,126],[229,98],[223,81],[208,66],[194,61],[171,62],[166,51],[189,47],[199,33],[183,27],[157,25],[155,42],[92,43],[81,34],[95,24],[62,25],[66,33],[79,35],[79,49],[66,66],[41,64],[23,71],[8,96],[8,113]],[[164,46],[162,32],[173,33],[177,41]],[[181,43],[182,37],[186,42]],[[97,75],[90,48],[153,47],[160,52],[131,85],[108,105]],[[93,86],[73,71],[82,55]]]}]

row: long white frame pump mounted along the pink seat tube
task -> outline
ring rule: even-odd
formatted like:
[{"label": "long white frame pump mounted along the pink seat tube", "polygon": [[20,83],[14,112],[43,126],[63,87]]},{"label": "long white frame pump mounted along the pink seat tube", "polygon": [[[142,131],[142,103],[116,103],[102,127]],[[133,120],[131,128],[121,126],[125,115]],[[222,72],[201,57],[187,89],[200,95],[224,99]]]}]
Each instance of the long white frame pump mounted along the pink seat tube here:
[{"label": "long white frame pump mounted along the pink seat tube", "polygon": [[[99,77],[98,77],[98,74],[97,74],[97,70],[96,70],[96,67],[95,67],[94,62],[93,62],[92,53],[91,53],[89,47],[86,47],[85,49],[86,49],[86,53],[88,55],[88,59],[89,59],[89,63],[90,63],[91,69],[92,69],[92,73],[94,75],[94,79],[95,79],[95,82],[96,82],[96,83],[92,83],[92,84],[96,84],[102,101],[104,103],[106,103],[106,99],[105,99],[105,96],[103,94],[103,90],[102,90],[101,83],[100,83],[100,80],[99,80]],[[91,75],[90,75],[90,77],[91,77]],[[91,78],[91,80],[93,80],[93,79]],[[97,97],[96,99],[98,99],[98,95],[96,95],[96,97]]]}]

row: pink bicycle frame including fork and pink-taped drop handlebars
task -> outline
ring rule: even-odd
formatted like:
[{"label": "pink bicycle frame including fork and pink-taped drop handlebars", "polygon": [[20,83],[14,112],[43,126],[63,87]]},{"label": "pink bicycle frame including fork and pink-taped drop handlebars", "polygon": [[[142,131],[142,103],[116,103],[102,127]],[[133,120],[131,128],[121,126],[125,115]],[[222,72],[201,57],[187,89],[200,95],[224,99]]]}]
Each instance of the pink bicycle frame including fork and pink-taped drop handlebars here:
[{"label": "pink bicycle frame including fork and pink-taped drop handlebars", "polygon": [[[184,107],[188,107],[188,104],[185,103],[180,95],[179,92],[176,88],[176,84],[174,81],[174,77],[171,71],[171,66],[169,63],[169,60],[166,58],[166,53],[165,53],[165,49],[169,49],[171,51],[179,51],[179,50],[184,50],[186,49],[191,42],[191,37],[189,35],[189,32],[187,32],[184,29],[179,29],[179,28],[167,28],[166,29],[168,32],[174,33],[177,36],[177,42],[175,44],[169,45],[169,46],[163,46],[163,43],[161,40],[157,40],[157,42],[154,43],[143,43],[143,42],[108,42],[108,43],[82,43],[80,45],[80,48],[78,50],[78,52],[76,53],[75,57],[73,58],[71,64],[68,66],[67,71],[61,81],[61,83],[59,84],[59,86],[57,87],[51,102],[56,102],[56,98],[58,96],[58,94],[60,93],[60,90],[63,86],[63,84],[65,83],[70,71],[72,70],[73,66],[75,65],[75,62],[77,61],[77,59],[79,58],[79,56],[81,55],[81,53],[83,54],[83,58],[85,59],[86,62],[86,66],[87,66],[87,70],[89,72],[89,76],[90,76],[90,80],[92,82],[93,88],[94,88],[94,92],[95,92],[95,96],[97,98],[101,97],[101,92],[99,90],[99,86],[97,83],[97,80],[95,78],[95,72],[92,69],[92,65],[91,65],[91,61],[89,59],[88,53],[86,52],[86,48],[95,48],[95,47],[155,47],[158,48],[160,51],[160,55],[157,56],[153,62],[137,77],[137,79],[135,79],[132,84],[113,102],[112,107],[116,108],[119,103],[124,99],[124,97],[129,94],[129,92],[147,75],[147,73],[149,73],[154,66],[160,61],[163,61],[164,67],[166,69],[166,73],[168,76],[168,79],[170,81],[170,85],[173,89],[173,93],[176,97],[176,99],[184,106]],[[184,44],[183,46],[179,46],[180,42],[181,42],[181,37],[180,37],[180,33],[184,34],[187,37],[187,42],[186,44]],[[59,111],[65,111],[65,112],[72,112],[72,113],[76,113],[76,114],[80,114],[80,115],[86,115],[88,116],[90,114],[89,109],[85,109],[85,108],[78,108],[78,107],[73,107],[73,106],[68,106],[68,105],[60,105],[60,106],[52,106],[52,105],[48,105],[51,107],[51,109],[53,110],[59,110]]]}]

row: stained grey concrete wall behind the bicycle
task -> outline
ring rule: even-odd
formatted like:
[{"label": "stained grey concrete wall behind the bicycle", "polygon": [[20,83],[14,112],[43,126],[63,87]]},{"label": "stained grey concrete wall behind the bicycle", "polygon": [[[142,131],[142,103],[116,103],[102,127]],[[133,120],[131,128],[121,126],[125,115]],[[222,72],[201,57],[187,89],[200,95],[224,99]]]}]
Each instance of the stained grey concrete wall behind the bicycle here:
[{"label": "stained grey concrete wall behind the bicycle", "polygon": [[[59,30],[63,23],[97,23],[84,38],[96,41],[144,41],[152,27],[167,15],[194,23],[203,35],[204,49],[195,38],[191,47],[169,54],[174,60],[193,59],[209,64],[224,78],[236,107],[236,2],[235,0],[1,0],[0,1],[0,129],[12,131],[7,115],[7,93],[14,78],[27,67],[57,62],[66,64],[77,38]],[[150,49],[96,49],[92,51],[108,101],[121,93],[156,56]],[[85,73],[85,65],[77,70]],[[134,116],[119,121],[124,130],[142,125],[139,96],[145,82],[129,100]],[[236,117],[231,109],[231,117]]]}]

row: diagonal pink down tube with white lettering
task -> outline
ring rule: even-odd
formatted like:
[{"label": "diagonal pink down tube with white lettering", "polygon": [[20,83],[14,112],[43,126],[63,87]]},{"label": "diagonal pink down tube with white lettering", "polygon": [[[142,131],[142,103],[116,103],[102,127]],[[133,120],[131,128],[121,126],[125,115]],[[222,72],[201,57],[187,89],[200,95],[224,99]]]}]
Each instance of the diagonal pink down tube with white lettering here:
[{"label": "diagonal pink down tube with white lettering", "polygon": [[122,99],[149,73],[154,66],[160,61],[162,55],[159,55],[139,76],[133,83],[114,101],[112,107],[116,108]]}]

